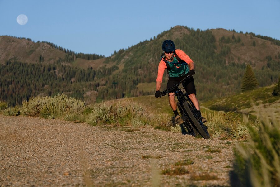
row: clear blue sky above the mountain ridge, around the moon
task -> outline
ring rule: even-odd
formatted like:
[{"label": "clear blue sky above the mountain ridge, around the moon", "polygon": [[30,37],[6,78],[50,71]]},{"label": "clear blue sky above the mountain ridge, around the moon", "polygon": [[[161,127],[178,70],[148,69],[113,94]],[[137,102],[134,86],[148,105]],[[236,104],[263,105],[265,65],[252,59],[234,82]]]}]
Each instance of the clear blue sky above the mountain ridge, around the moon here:
[{"label": "clear blue sky above the mountain ridge, around the moon", "polygon": [[[176,25],[280,40],[279,10],[280,0],[0,0],[0,35],[110,56]],[[28,17],[26,25],[16,22],[20,14]]]}]

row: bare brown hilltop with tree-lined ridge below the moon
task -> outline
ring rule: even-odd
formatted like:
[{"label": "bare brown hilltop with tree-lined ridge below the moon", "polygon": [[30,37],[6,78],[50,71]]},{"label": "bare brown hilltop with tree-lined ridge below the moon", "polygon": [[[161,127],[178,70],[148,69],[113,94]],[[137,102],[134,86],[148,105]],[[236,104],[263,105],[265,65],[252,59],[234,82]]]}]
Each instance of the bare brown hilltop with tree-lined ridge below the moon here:
[{"label": "bare brown hilltop with tree-lined ridge below the moon", "polygon": [[75,53],[74,51],[57,46],[46,41],[37,41],[30,38],[0,36],[0,64],[6,61],[25,63],[53,64],[60,62],[81,62],[92,64],[95,59],[104,58],[103,55]]}]

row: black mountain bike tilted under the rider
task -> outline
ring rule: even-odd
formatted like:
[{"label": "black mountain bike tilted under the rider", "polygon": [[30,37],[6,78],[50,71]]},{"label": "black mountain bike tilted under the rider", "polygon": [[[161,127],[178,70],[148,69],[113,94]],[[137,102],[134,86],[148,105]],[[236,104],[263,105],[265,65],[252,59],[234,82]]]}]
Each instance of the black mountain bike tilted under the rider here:
[{"label": "black mountain bike tilted under the rider", "polygon": [[184,90],[181,90],[182,85],[189,78],[190,76],[186,76],[183,80],[181,80],[178,84],[175,84],[172,88],[162,91],[161,96],[166,95],[169,90],[176,90],[175,96],[177,96],[178,99],[177,107],[179,108],[180,113],[182,114],[182,118],[184,120],[184,127],[186,127],[187,130],[195,137],[200,134],[204,139],[209,139],[210,135],[207,131],[207,127],[201,121],[200,114],[195,108],[193,102],[190,100],[188,94],[184,94]]}]

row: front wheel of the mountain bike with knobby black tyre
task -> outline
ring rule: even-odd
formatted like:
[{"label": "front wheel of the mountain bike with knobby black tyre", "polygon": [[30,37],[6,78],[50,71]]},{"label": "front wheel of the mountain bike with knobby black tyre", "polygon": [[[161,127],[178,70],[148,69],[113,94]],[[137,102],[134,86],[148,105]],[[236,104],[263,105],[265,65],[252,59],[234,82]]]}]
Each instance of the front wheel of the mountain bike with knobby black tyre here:
[{"label": "front wheel of the mountain bike with knobby black tyre", "polygon": [[198,120],[198,117],[195,114],[194,108],[192,107],[191,103],[189,103],[189,101],[185,101],[183,103],[183,106],[189,116],[189,120],[196,127],[200,135],[204,139],[209,139],[210,135],[207,131],[207,127],[205,127],[205,125],[200,120]]}]

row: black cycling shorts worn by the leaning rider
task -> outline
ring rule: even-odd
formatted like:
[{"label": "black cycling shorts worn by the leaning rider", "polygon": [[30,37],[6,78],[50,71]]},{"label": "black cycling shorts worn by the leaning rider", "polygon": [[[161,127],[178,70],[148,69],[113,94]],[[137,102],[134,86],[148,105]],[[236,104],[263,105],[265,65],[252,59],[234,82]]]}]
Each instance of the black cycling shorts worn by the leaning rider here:
[{"label": "black cycling shorts worn by the leaning rider", "polygon": [[[181,77],[170,77],[167,82],[167,89],[172,88],[175,84],[178,84],[182,79],[184,79],[187,75],[183,75]],[[191,76],[185,83],[183,84],[185,91],[190,94],[196,95],[196,90],[194,86],[194,78]],[[175,92],[176,90],[169,90],[168,93]]]}]

